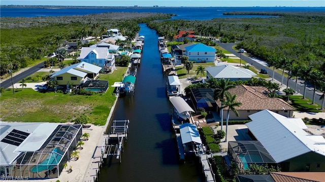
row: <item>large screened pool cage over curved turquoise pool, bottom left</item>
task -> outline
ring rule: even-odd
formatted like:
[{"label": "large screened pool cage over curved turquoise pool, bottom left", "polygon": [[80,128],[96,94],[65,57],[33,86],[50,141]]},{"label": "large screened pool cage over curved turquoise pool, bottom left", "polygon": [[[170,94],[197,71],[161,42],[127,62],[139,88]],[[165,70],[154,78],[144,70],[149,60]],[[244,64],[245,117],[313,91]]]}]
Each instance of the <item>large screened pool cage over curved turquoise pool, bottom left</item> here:
[{"label": "large screened pool cage over curved turquoise pool, bottom left", "polygon": [[11,166],[7,176],[55,178],[71,156],[82,135],[82,125],[60,124],[37,151],[24,151]]}]

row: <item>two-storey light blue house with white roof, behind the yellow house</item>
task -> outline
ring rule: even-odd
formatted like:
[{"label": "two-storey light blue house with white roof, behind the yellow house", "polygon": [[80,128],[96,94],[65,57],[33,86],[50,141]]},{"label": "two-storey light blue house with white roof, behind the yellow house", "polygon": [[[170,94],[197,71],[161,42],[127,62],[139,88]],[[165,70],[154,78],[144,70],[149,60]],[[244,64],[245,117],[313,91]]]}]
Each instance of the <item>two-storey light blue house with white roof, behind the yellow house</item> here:
[{"label": "two-storey light blue house with white roof, behind the yellow house", "polygon": [[77,60],[98,65],[103,71],[116,69],[115,56],[109,53],[107,47],[83,47],[81,48],[81,53]]}]

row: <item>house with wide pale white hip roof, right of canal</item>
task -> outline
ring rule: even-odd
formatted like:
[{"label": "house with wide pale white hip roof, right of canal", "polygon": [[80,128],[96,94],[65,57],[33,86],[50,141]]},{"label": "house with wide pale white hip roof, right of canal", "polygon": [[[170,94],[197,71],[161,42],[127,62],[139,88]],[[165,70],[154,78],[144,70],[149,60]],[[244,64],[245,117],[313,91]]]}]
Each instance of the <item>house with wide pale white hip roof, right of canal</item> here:
[{"label": "house with wide pale white hip roof, right of canal", "polygon": [[233,66],[233,65],[221,65],[221,66],[211,66],[206,68],[207,79],[216,78],[216,79],[228,79],[230,81],[237,80],[249,80],[256,74],[249,69]]}]

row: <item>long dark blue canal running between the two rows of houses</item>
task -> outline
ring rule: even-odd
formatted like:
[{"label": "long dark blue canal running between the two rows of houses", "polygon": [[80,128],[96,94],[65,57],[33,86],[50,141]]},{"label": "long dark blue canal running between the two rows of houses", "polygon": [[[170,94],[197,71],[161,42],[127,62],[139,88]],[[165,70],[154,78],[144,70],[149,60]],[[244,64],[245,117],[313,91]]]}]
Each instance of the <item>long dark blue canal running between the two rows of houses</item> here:
[{"label": "long dark blue canal running between the two rows of houses", "polygon": [[203,181],[197,161],[178,163],[177,146],[171,129],[172,105],[165,93],[166,76],[160,64],[156,31],[140,24],[145,36],[141,66],[134,96],[119,99],[113,119],[128,119],[129,133],[121,154],[101,170],[104,181]]}]

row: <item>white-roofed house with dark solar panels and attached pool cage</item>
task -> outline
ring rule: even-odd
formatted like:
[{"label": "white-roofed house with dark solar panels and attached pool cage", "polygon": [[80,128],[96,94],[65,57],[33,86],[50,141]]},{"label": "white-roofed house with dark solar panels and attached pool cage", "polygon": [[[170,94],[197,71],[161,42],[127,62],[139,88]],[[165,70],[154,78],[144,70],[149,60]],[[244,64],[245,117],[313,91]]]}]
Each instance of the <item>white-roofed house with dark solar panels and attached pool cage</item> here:
[{"label": "white-roofed house with dark solar panels and attached pool cage", "polygon": [[82,125],[1,122],[0,173],[2,177],[56,178],[71,156]]}]

